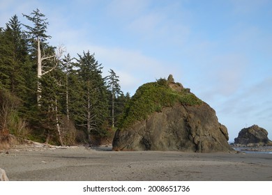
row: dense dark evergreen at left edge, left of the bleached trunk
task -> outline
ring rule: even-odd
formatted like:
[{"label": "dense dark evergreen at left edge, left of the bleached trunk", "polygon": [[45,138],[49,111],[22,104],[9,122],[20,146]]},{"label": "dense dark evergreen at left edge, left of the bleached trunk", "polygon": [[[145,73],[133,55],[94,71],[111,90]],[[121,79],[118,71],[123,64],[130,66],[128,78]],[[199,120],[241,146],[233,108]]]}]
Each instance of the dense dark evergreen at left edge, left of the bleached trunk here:
[{"label": "dense dark evergreen at left edge, left of the bleached trunk", "polygon": [[26,41],[16,15],[1,32],[0,43],[0,85],[25,101],[29,61]]}]

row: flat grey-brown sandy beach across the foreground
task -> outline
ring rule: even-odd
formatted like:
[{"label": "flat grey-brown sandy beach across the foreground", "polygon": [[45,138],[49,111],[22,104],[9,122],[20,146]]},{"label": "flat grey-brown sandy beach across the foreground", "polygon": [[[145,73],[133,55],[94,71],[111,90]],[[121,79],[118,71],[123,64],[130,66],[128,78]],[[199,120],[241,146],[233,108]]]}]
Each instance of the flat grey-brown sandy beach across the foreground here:
[{"label": "flat grey-brown sandy beach across the foreground", "polygon": [[110,148],[1,151],[9,180],[272,180],[272,155],[114,152]]}]

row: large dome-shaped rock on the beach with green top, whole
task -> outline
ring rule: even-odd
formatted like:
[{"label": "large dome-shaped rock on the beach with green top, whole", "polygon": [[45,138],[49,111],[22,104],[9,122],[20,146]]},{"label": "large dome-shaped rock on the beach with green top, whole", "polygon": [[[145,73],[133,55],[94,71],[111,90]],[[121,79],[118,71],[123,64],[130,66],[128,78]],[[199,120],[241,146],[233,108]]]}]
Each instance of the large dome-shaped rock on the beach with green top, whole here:
[{"label": "large dome-shaped rock on the beach with green top, whole", "polygon": [[137,89],[126,105],[113,150],[230,152],[228,139],[216,111],[169,75]]}]

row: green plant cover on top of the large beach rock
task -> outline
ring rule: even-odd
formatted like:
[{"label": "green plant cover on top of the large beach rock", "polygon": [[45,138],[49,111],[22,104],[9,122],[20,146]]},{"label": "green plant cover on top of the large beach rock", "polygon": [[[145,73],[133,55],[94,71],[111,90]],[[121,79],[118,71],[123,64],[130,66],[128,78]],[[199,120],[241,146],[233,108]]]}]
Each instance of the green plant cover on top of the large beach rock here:
[{"label": "green plant cover on top of the large beach rock", "polygon": [[202,104],[202,100],[190,93],[188,88],[166,79],[144,84],[126,104],[119,128],[122,130],[137,120],[145,120],[150,114],[160,112],[164,107],[173,107],[176,103],[192,106]]}]

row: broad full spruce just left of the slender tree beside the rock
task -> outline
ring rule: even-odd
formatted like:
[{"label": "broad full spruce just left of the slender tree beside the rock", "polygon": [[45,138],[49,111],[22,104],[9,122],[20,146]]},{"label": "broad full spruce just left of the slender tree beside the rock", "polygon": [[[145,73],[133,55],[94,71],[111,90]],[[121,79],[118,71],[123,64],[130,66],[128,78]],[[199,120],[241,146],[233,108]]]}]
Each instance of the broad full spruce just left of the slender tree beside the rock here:
[{"label": "broad full spruce just left of the slender tree beside the rock", "polygon": [[103,134],[107,121],[107,88],[102,77],[102,65],[94,58],[94,54],[83,52],[78,54],[78,77],[80,79],[81,98],[77,108],[77,123],[82,125],[91,143],[91,134]]}]

